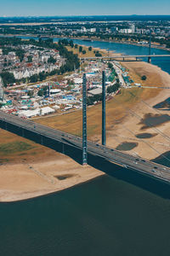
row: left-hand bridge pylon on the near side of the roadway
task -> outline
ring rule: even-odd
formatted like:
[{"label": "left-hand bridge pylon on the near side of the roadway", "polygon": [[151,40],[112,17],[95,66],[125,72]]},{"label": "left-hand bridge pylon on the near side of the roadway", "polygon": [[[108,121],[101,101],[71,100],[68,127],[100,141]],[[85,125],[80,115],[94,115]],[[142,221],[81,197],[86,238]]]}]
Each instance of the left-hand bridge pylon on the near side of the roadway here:
[{"label": "left-hand bridge pylon on the near side of the roadway", "polygon": [[86,74],[82,78],[82,166],[88,164],[87,154],[87,89],[86,89]]}]

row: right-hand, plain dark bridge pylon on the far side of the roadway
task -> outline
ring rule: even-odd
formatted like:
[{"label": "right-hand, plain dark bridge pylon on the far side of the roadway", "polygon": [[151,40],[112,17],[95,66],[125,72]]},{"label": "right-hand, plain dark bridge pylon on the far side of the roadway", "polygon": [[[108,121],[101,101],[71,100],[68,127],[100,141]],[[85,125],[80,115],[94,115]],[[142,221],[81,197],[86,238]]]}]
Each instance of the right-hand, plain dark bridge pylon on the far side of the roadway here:
[{"label": "right-hand, plain dark bridge pylon on the far side of the roadway", "polygon": [[105,145],[105,71],[102,73],[102,145]]}]

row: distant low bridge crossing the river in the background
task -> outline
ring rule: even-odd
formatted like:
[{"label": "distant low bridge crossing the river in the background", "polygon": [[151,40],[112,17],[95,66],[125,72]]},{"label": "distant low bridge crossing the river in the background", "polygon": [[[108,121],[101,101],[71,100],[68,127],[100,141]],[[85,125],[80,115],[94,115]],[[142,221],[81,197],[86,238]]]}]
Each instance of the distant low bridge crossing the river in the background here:
[{"label": "distant low bridge crossing the river in the background", "polygon": [[114,60],[129,60],[129,59],[135,59],[138,61],[142,58],[148,58],[148,62],[151,61],[151,58],[162,58],[162,57],[169,57],[170,55],[112,55],[112,56],[101,56],[101,57],[82,57],[81,61],[97,61],[97,60],[103,60],[103,61],[114,61]]}]

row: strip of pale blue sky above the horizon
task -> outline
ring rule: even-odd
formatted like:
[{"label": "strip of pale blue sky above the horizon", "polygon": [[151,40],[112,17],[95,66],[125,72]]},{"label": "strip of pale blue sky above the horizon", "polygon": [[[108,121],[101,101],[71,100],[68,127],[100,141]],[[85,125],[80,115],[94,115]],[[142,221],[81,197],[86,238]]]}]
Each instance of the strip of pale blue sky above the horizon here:
[{"label": "strip of pale blue sky above the horizon", "polygon": [[0,16],[170,15],[170,0],[0,0]]}]

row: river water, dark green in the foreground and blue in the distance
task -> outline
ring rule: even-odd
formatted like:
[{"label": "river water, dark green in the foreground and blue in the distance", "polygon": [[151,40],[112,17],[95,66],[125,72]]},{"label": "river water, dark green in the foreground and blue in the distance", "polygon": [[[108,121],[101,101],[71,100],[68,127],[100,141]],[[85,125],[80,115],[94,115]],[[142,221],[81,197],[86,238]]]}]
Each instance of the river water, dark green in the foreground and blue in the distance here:
[{"label": "river water, dark green in the foreground and blue in the distance", "polygon": [[[148,50],[105,42],[77,44],[132,55]],[[167,59],[153,64],[170,73]],[[170,186],[107,163],[101,169],[107,175],[74,188],[1,203],[0,255],[170,255]]]}]

